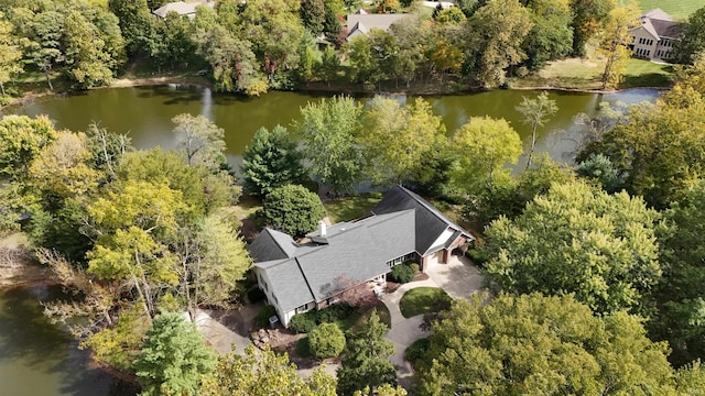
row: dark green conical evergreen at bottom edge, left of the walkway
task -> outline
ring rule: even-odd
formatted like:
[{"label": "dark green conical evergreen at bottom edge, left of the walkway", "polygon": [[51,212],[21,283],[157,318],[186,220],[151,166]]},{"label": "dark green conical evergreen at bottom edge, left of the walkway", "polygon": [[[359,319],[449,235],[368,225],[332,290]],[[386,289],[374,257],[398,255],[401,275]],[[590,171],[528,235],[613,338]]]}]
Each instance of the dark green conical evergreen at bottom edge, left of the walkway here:
[{"label": "dark green conical evergreen at bottom edge, left of the walkway", "polygon": [[352,395],[367,388],[368,395],[383,384],[395,385],[397,374],[389,356],[394,345],[384,339],[389,328],[379,320],[377,312],[348,336],[348,345],[337,370],[339,395]]}]

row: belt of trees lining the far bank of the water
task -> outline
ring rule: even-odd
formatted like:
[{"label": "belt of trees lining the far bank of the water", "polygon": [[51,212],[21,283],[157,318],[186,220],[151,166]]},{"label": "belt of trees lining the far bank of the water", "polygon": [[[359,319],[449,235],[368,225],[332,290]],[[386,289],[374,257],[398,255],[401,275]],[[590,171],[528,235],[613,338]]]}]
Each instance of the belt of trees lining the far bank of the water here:
[{"label": "belt of trees lining the far bank of the water", "polygon": [[[607,59],[615,86],[639,15],[612,0],[464,0],[423,16],[419,2],[384,0],[376,12],[408,12],[389,31],[347,41],[345,15],[359,1],[223,0],[189,19],[151,13],[165,1],[0,1],[0,88],[23,73],[66,78],[75,89],[107,85],[126,67],[155,73],[204,69],[220,91],[260,95],[335,81],[365,87],[413,84],[497,87],[546,62]],[[703,42],[703,11],[691,16],[679,48],[685,63]],[[4,101],[8,101],[6,98]]]}]

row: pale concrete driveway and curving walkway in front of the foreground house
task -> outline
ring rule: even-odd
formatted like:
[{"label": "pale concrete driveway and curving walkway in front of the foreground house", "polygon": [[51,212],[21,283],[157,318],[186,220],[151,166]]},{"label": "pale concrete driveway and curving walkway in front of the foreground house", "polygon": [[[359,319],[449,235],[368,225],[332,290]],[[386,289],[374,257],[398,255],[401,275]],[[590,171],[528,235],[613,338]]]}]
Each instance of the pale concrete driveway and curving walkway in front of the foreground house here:
[{"label": "pale concrete driveway and curving walkway in front of the foreground house", "polygon": [[397,381],[405,388],[411,385],[413,369],[404,360],[404,351],[420,338],[427,337],[421,330],[423,315],[404,318],[399,308],[402,296],[416,287],[441,287],[453,298],[469,298],[482,286],[479,271],[467,257],[451,256],[447,264],[437,264],[427,272],[429,279],[401,285],[394,293],[382,296],[381,300],[389,309],[392,327],[387,339],[394,343],[394,354],[390,358],[397,366]]}]

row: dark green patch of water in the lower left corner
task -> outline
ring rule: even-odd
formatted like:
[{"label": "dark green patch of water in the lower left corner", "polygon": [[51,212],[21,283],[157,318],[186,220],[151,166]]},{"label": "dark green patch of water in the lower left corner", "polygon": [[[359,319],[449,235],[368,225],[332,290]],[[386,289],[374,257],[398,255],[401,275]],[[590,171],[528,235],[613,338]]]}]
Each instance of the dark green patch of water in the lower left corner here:
[{"label": "dark green patch of water in the lower left corner", "polygon": [[134,395],[44,317],[40,301],[59,296],[61,288],[44,285],[0,290],[0,394]]}]

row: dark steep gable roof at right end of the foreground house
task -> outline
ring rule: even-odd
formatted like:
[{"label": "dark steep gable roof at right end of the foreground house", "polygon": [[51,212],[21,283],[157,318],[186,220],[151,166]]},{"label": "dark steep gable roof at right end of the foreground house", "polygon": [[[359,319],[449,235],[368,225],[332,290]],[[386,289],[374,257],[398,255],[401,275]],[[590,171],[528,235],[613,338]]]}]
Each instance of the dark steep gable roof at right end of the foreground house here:
[{"label": "dark steep gable roof at right end of the foreground house", "polygon": [[415,246],[416,252],[421,255],[424,255],[429,252],[429,249],[433,248],[433,243],[448,227],[473,239],[467,231],[451,221],[425,199],[401,186],[394,186],[389,190],[384,198],[372,209],[372,213],[392,213],[409,209],[413,209],[416,212]]}]

